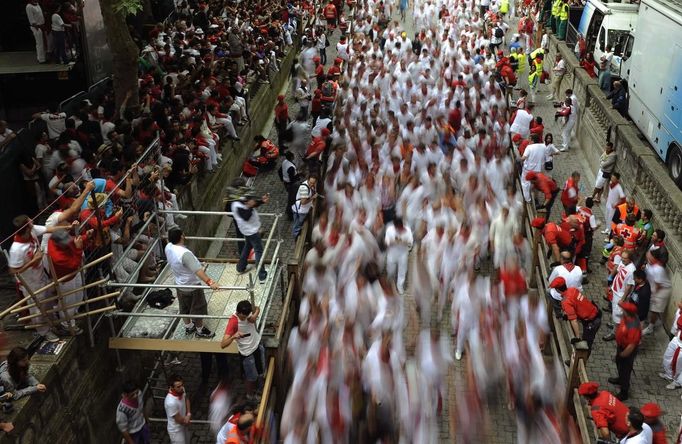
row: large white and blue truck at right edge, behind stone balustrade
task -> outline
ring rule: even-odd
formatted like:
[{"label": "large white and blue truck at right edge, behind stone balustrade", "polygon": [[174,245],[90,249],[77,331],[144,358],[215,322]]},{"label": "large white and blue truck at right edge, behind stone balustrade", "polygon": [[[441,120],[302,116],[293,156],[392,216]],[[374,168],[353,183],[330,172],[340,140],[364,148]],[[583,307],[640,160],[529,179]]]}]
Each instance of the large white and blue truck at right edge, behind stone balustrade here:
[{"label": "large white and blue truck at right edge, behind stone balustrade", "polygon": [[682,187],[682,3],[642,0],[629,38],[622,71],[630,117]]}]

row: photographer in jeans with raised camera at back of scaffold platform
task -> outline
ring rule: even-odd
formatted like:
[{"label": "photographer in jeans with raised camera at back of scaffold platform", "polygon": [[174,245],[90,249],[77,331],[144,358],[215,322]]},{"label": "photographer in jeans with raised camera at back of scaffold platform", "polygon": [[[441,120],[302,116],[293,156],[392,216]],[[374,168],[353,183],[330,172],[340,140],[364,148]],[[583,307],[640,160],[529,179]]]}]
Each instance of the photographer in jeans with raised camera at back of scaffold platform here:
[{"label": "photographer in jeans with raised camera at back of scaffold platform", "polygon": [[[234,220],[237,222],[237,227],[239,231],[244,235],[244,248],[242,249],[241,255],[239,257],[239,262],[237,263],[237,272],[245,273],[248,271],[246,266],[246,261],[249,258],[249,253],[253,248],[256,253],[256,264],[260,262],[260,258],[263,255],[263,241],[260,237],[260,218],[258,217],[258,212],[256,208],[268,203],[270,196],[268,194],[263,195],[261,199],[254,196],[243,196],[239,200],[232,202],[232,213]],[[258,270],[258,279],[261,282],[265,282],[268,274],[265,268],[261,267]]]}]

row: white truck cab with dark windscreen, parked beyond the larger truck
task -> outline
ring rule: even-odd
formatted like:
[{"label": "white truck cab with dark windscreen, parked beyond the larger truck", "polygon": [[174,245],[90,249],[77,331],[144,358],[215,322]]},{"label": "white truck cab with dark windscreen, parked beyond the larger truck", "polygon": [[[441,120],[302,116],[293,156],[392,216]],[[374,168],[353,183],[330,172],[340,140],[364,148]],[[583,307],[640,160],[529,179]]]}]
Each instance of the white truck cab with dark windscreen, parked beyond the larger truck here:
[{"label": "white truck cab with dark windscreen, parked beyond the larger truck", "polygon": [[610,70],[614,78],[622,77],[623,58],[631,56],[638,11],[637,4],[599,0],[588,0],[583,9],[578,32],[585,36],[587,51],[593,53],[597,66],[608,50],[613,52]]}]

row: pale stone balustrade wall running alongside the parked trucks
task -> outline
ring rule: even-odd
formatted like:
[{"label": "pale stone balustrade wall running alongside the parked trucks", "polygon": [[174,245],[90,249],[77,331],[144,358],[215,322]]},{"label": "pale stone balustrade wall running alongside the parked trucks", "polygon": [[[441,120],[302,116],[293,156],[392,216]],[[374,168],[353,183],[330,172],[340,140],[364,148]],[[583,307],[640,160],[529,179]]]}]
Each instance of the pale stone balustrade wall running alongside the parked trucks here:
[{"label": "pale stone balustrade wall running alongside the parked trucks", "polygon": [[678,285],[682,284],[682,192],[639,129],[613,109],[597,80],[580,67],[572,48],[552,36],[547,60],[553,61],[557,52],[562,54],[568,68],[561,89],[572,88],[580,103],[576,133],[593,175],[599,169],[605,142],[613,142],[618,153],[617,171],[622,175],[626,193],[635,197],[640,208],[650,208],[654,226],[666,232],[670,252],[668,267],[673,281],[673,297],[665,316],[669,327],[676,304],[682,300],[682,286]]}]

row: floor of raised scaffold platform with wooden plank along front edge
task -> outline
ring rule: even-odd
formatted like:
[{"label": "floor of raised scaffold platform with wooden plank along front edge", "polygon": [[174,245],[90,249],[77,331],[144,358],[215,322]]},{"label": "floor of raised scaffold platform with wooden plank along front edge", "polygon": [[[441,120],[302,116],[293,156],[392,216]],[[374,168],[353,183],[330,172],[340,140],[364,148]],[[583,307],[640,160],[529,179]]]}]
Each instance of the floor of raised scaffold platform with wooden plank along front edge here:
[{"label": "floor of raised scaffold platform with wooden plank along front edge", "polygon": [[[272,288],[275,288],[275,267],[265,265],[268,277],[264,283],[259,283],[257,275],[251,271],[255,279],[254,302],[261,307],[261,312],[268,305]],[[270,272],[270,269],[273,271]],[[233,262],[209,263],[206,273],[220,286],[248,287],[249,273],[239,274]],[[166,266],[155,284],[174,284],[173,273]],[[173,294],[177,294],[172,289]],[[123,325],[117,337],[109,339],[109,347],[127,350],[157,350],[176,352],[213,352],[213,353],[237,353],[236,344],[227,349],[220,348],[220,341],[227,326],[229,317],[235,312],[239,301],[249,299],[247,290],[205,290],[208,303],[208,314],[212,316],[224,316],[221,319],[205,319],[204,325],[216,333],[212,339],[198,338],[187,335],[180,318],[171,317],[136,317],[130,316]],[[175,301],[164,309],[152,308],[147,304],[146,297],[141,299],[133,309],[133,313],[144,314],[177,314],[179,303]],[[257,327],[260,329],[265,322],[264,316],[258,319]]]}]

